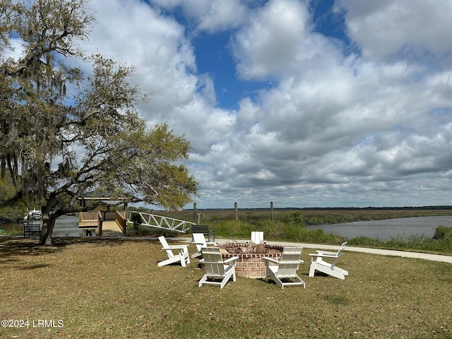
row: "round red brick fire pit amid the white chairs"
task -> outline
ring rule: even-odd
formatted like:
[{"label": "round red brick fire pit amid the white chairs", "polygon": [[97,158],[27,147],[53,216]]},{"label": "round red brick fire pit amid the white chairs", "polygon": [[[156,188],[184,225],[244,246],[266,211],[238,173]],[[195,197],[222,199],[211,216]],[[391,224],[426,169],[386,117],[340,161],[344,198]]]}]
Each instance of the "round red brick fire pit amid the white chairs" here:
[{"label": "round red brick fire pit amid the white chairs", "polygon": [[235,273],[239,277],[265,278],[266,263],[262,260],[264,256],[279,260],[283,255],[283,246],[254,244],[224,244],[220,247],[224,259],[238,256]]}]

